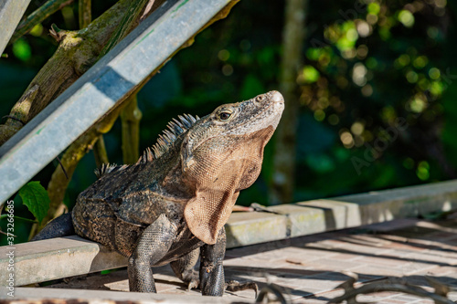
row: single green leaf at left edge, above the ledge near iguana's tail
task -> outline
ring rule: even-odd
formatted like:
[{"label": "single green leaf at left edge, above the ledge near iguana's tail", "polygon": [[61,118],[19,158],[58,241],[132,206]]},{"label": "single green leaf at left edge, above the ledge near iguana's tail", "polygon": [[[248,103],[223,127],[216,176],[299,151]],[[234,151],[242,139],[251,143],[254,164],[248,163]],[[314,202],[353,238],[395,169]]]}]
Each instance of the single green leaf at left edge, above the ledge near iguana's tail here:
[{"label": "single green leaf at left edge, above the ledge near iguana's tail", "polygon": [[46,189],[39,182],[30,182],[19,190],[19,196],[32,215],[41,223],[49,209],[49,196]]}]

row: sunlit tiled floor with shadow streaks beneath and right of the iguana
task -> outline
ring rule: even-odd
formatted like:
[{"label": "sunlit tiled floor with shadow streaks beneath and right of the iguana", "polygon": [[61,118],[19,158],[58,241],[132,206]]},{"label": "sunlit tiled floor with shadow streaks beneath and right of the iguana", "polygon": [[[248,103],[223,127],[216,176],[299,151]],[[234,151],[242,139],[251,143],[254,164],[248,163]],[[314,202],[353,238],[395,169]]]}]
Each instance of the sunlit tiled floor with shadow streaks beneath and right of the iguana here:
[{"label": "sunlit tiled floor with shadow streaks beneath and right of the iguana", "polygon": [[[402,278],[409,284],[432,291],[425,276],[453,288],[449,298],[457,300],[457,218],[437,222],[397,220],[313,236],[296,237],[278,242],[229,249],[224,262],[226,279],[255,281],[262,288],[267,282],[281,288],[294,303],[326,303],[343,294],[337,288],[349,278],[358,276],[360,288],[377,283],[380,290],[388,278]],[[192,294],[175,278],[169,267],[155,270],[159,293]],[[383,285],[384,284],[384,285]],[[71,279],[51,287],[101,288],[127,290],[125,270],[108,275],[90,275]],[[236,301],[254,301],[254,292],[226,292]],[[359,301],[378,303],[433,303],[405,293],[383,291],[360,295]]]}]

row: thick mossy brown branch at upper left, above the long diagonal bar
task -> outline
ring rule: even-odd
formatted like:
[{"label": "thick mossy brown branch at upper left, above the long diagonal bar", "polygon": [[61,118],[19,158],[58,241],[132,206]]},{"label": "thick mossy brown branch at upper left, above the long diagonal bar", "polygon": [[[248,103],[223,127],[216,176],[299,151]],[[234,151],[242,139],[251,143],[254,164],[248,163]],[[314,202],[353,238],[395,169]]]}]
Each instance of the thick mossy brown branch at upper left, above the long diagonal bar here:
[{"label": "thick mossy brown branch at upper left, above the long diagonal bar", "polygon": [[[60,44],[57,51],[37,73],[23,97],[16,102],[10,115],[27,123],[48,106],[50,101],[55,100],[76,79],[79,79],[97,61],[101,50],[128,12],[127,8],[130,7],[131,2],[131,0],[119,1],[90,23],[90,26],[80,31],[60,30],[58,32]],[[163,2],[164,0],[156,1],[159,4]],[[129,26],[129,31],[132,28]],[[34,97],[27,98],[34,88],[37,90]],[[11,119],[0,125],[0,145],[21,128],[22,125]]]}]

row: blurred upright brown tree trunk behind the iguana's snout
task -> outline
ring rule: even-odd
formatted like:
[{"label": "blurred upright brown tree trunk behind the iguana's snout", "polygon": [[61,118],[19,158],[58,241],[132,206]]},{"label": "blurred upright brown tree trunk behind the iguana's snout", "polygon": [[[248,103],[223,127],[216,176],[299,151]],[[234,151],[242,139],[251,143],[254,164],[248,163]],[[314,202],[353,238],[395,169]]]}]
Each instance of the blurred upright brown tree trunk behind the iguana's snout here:
[{"label": "blurred upright brown tree trunk behind the iguana's snout", "polygon": [[304,20],[308,0],[287,0],[282,32],[280,89],[285,100],[276,131],[270,204],[292,201],[295,183],[295,141],[299,113],[297,73],[303,63]]}]

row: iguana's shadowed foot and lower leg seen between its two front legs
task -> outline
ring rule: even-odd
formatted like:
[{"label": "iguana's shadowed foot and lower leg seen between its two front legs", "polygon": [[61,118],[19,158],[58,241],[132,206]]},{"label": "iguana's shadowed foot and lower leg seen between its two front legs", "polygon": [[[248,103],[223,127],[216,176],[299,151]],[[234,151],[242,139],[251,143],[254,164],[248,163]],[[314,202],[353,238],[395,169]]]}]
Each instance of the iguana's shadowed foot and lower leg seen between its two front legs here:
[{"label": "iguana's shadowed foot and lower leg seen between its two front legs", "polygon": [[199,254],[200,248],[197,248],[188,253],[186,256],[170,263],[170,266],[175,272],[176,277],[182,279],[185,283],[188,284],[188,290],[192,288],[198,288],[200,285],[198,272],[195,270]]}]

